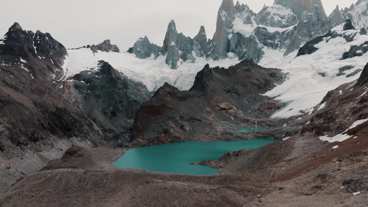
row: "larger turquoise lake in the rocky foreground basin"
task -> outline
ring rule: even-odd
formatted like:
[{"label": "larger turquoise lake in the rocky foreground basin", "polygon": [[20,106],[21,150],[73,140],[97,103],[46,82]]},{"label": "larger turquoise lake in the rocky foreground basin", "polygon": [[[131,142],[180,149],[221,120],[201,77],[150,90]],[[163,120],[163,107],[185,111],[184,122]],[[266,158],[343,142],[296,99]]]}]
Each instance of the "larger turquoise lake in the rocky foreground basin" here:
[{"label": "larger turquoise lake in the rocky foreground basin", "polygon": [[217,169],[202,165],[190,165],[189,163],[216,160],[227,152],[258,148],[277,141],[279,140],[254,138],[247,141],[183,142],[138,147],[125,152],[112,165],[118,168],[140,169],[152,172],[216,175],[220,174]]}]

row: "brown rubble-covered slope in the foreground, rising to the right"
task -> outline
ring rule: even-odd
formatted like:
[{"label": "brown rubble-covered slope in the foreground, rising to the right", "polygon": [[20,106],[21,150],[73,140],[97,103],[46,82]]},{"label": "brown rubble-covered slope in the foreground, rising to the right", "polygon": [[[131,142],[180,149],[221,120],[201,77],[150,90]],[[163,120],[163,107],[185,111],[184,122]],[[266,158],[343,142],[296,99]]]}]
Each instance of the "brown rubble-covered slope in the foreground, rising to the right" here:
[{"label": "brown rubble-covered slope in the foreground, rising to the right", "polygon": [[[330,91],[310,115],[285,120],[281,130],[295,132],[285,141],[203,163],[220,168],[220,175],[117,169],[110,163],[128,148],[72,147],[41,172],[0,192],[0,204],[366,207],[367,90],[368,64],[357,81]],[[349,137],[323,141],[339,133]]]}]

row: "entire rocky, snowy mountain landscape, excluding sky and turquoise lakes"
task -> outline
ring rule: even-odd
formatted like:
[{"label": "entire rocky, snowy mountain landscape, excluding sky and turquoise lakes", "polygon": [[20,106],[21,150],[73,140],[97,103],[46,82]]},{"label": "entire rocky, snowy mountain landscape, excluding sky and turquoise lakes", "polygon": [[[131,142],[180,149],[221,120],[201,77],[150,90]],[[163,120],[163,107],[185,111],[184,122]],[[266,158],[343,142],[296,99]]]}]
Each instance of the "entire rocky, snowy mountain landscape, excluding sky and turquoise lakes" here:
[{"label": "entire rocky, snowy mountain landscape, excluding sky and turquoise lakes", "polygon": [[[364,206],[367,29],[368,0],[329,16],[321,0],[223,0],[212,39],[171,20],[162,46],[127,52],[15,22],[0,38],[0,206]],[[252,138],[280,142],[192,163],[218,177],[110,165],[133,147]]]}]

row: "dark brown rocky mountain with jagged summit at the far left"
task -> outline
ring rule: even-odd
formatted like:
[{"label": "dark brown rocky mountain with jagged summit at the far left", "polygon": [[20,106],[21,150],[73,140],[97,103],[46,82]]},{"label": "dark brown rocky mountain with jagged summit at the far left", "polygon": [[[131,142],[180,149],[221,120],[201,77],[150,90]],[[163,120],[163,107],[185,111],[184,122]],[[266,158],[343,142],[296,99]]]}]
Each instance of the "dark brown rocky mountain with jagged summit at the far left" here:
[{"label": "dark brown rocky mountain with jagged summit at the far left", "polygon": [[99,140],[91,121],[56,82],[63,77],[64,46],[48,33],[23,31],[17,23],[6,36],[0,45],[1,138],[20,147],[50,136]]}]

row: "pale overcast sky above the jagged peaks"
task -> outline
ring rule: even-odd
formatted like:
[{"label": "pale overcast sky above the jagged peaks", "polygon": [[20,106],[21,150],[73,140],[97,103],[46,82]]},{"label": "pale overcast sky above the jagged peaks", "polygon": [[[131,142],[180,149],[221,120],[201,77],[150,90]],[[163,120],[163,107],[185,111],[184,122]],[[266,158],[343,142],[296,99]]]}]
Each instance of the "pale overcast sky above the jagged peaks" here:
[{"label": "pale overcast sky above the jagged peaks", "polygon": [[[26,30],[49,32],[66,48],[98,44],[111,39],[126,51],[139,37],[148,36],[162,46],[167,24],[176,22],[178,32],[194,37],[201,25],[208,38],[216,29],[222,0],[0,0],[0,35],[15,22]],[[234,3],[236,0],[234,0]],[[239,0],[254,12],[274,0]],[[322,0],[329,15],[339,4],[349,7],[357,0]]]}]

